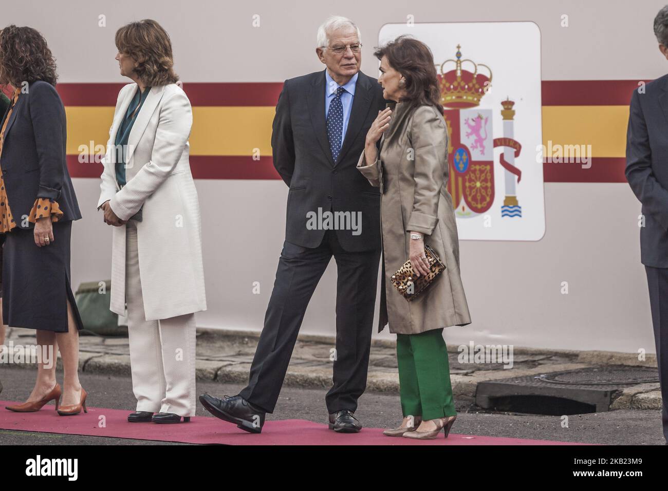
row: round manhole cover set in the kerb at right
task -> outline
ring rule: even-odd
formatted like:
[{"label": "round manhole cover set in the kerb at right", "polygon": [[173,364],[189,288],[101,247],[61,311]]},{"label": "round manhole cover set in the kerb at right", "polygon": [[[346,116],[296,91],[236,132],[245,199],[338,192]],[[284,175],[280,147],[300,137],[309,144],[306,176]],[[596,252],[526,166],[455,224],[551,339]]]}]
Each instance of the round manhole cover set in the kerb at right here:
[{"label": "round manhole cover set in the kerb at right", "polygon": [[659,372],[644,367],[599,367],[546,373],[540,375],[538,379],[550,383],[576,385],[634,385],[658,382]]}]

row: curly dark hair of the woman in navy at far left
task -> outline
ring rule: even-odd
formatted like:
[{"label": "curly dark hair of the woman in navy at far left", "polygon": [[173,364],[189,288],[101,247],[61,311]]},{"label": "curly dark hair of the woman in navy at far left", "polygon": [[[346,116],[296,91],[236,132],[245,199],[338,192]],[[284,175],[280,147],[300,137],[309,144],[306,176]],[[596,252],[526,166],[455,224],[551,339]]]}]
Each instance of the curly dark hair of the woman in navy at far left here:
[{"label": "curly dark hair of the woman in navy at far left", "polygon": [[39,31],[15,25],[0,31],[0,84],[43,80],[55,86],[57,79],[55,59]]}]

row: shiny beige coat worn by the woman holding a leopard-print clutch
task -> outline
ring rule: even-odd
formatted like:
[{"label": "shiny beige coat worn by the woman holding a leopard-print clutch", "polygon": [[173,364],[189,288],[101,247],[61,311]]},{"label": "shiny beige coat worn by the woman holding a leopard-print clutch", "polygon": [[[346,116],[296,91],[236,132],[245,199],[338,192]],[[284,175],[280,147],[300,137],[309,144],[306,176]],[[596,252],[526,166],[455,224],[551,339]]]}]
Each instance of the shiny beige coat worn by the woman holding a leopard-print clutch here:
[{"label": "shiny beige coat worn by the woman holding a leopard-print clutch", "polygon": [[[381,140],[379,158],[367,166],[362,152],[359,171],[381,192],[383,276],[378,331],[417,334],[467,325],[471,317],[460,277],[459,239],[448,183],[448,130],[433,106],[409,108],[398,103]],[[390,277],[408,260],[409,231],[446,265],[434,283],[406,301]]]}]

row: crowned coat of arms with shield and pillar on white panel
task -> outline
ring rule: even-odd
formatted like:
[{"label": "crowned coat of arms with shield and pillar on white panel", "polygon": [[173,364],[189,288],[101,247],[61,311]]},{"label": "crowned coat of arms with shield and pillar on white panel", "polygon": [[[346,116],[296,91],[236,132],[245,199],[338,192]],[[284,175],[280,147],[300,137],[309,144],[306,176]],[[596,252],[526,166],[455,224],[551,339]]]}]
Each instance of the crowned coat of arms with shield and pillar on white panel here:
[{"label": "crowned coat of arms with shield and pillar on white panel", "polygon": [[504,136],[494,138],[492,109],[479,108],[492,88],[490,67],[462,59],[461,45],[457,45],[456,59],[446,59],[436,66],[440,69],[441,104],[446,108],[443,116],[448,125],[448,191],[455,215],[472,218],[494,204],[494,148],[500,146],[504,147],[500,164],[506,172],[501,216],[521,217],[516,184],[522,173],[514,162],[522,146],[513,139],[515,103],[508,98],[501,103]]}]

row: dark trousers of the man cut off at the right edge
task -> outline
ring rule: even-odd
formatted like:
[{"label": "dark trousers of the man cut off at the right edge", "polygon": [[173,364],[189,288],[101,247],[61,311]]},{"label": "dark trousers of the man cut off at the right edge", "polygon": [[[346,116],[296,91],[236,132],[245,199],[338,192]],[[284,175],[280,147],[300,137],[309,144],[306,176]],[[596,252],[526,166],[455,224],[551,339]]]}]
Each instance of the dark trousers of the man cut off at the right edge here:
[{"label": "dark trousers of the man cut off at the right edge", "polygon": [[668,440],[668,268],[645,266],[645,271],[647,271],[649,303],[652,309],[659,383],[663,399],[661,412],[663,436]]}]

